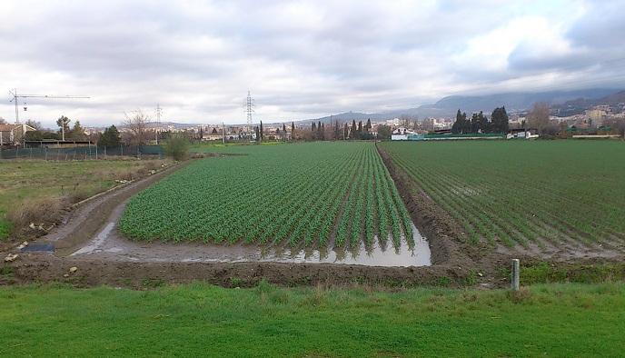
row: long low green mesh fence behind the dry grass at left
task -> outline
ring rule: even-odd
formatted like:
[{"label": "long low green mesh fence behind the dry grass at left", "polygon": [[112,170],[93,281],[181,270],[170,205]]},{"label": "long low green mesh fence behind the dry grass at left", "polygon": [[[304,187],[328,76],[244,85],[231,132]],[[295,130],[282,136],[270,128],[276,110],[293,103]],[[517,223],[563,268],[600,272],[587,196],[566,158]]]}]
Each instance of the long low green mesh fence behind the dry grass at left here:
[{"label": "long low green mesh fence behind the dry grass at left", "polygon": [[120,145],[104,147],[95,145],[48,148],[45,146],[30,148],[0,149],[0,159],[44,159],[52,161],[67,160],[94,160],[110,157],[133,156],[141,159],[142,156],[150,158],[164,157],[163,147],[160,145]]}]

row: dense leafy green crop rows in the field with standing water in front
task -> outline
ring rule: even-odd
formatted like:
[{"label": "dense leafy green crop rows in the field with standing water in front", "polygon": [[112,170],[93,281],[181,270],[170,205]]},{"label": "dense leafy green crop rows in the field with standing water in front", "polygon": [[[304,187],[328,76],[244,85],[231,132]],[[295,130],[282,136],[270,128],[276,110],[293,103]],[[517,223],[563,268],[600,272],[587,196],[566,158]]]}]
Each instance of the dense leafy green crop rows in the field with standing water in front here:
[{"label": "dense leafy green crop rows in the field with standing water in front", "polygon": [[225,147],[135,196],[137,240],[371,247],[412,245],[412,221],[372,143]]}]

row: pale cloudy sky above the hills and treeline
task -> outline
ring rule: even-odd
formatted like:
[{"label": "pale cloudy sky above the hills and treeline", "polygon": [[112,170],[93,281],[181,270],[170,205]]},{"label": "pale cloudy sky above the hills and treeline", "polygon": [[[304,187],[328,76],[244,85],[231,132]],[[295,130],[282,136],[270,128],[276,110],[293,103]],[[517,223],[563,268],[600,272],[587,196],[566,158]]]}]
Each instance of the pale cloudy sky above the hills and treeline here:
[{"label": "pale cloudy sky above the hills and treeline", "polygon": [[[8,91],[52,126],[143,109],[185,123],[382,112],[449,94],[625,87],[624,1],[12,1],[0,12]],[[0,97],[1,98],[1,97]]]}]

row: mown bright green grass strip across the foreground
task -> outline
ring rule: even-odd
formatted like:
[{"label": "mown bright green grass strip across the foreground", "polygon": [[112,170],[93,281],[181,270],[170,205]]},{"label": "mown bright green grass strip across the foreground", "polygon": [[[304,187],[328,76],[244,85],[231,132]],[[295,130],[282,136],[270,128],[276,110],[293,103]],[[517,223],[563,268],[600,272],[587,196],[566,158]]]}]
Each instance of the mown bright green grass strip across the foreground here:
[{"label": "mown bright green grass strip across the foreground", "polygon": [[0,353],[618,356],[625,284],[505,290],[0,288]]}]

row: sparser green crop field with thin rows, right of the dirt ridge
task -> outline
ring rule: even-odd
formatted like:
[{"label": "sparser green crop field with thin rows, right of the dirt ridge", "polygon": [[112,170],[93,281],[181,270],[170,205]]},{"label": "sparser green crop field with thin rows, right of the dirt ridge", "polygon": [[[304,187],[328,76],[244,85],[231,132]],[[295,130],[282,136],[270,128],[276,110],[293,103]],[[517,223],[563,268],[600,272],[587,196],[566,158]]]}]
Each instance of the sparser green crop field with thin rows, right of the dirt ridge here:
[{"label": "sparser green crop field with thin rows, right of the dirt ridge", "polygon": [[384,143],[471,242],[622,243],[625,144]]}]

